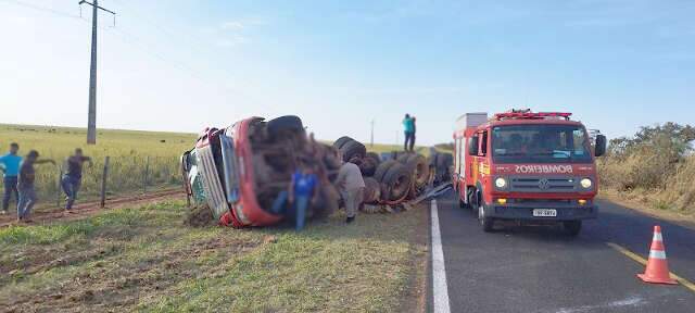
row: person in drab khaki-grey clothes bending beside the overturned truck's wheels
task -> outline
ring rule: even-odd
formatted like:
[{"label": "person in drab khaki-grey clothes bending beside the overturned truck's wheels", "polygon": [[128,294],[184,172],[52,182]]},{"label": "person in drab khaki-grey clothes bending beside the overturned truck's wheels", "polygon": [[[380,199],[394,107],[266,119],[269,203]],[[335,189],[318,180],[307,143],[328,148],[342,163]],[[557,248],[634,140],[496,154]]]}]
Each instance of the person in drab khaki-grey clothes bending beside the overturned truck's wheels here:
[{"label": "person in drab khaki-grey clothes bending beside the overturned truck's wheels", "polygon": [[345,222],[350,224],[355,221],[357,209],[362,204],[364,197],[365,180],[362,178],[359,166],[352,162],[343,162],[338,172],[336,185],[345,201],[345,213],[348,215]]}]

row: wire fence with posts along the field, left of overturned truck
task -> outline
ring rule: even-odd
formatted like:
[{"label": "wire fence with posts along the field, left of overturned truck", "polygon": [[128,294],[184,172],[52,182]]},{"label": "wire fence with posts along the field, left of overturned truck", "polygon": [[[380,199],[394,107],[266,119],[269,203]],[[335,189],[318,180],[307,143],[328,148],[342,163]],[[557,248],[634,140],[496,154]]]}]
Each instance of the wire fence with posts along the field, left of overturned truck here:
[{"label": "wire fence with posts along the field, left of overturned truck", "polygon": [[[65,165],[59,162],[55,166],[35,166],[38,205],[64,205],[65,195],[61,188],[61,177],[65,172]],[[175,156],[92,158],[91,166],[89,163],[84,165],[78,201],[99,200],[102,191],[105,198],[114,198],[175,188],[181,184],[179,168],[179,160]]]}]

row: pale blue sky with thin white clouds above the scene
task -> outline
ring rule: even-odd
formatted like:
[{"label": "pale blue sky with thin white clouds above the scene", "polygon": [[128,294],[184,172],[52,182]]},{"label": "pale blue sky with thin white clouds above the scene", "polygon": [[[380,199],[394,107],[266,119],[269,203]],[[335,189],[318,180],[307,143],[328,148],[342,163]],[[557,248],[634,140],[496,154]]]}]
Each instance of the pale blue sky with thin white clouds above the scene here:
[{"label": "pale blue sky with thin white clouds above the scene", "polygon": [[[85,126],[90,12],[0,0],[1,123]],[[570,111],[609,137],[695,118],[695,1],[102,0],[98,124],[298,114],[318,138],[451,140],[465,112]]]}]

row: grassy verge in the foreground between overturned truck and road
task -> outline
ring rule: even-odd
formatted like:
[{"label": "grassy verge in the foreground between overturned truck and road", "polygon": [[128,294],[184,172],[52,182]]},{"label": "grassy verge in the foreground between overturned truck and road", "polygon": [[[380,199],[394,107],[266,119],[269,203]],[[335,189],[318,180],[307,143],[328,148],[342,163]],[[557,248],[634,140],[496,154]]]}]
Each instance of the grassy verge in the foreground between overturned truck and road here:
[{"label": "grassy verge in the foreground between overturned truck and road", "polygon": [[182,223],[184,202],[169,201],[1,228],[0,308],[419,311],[427,252],[417,237],[427,238],[425,209],[361,214],[350,226],[336,213],[295,233],[190,227]]}]

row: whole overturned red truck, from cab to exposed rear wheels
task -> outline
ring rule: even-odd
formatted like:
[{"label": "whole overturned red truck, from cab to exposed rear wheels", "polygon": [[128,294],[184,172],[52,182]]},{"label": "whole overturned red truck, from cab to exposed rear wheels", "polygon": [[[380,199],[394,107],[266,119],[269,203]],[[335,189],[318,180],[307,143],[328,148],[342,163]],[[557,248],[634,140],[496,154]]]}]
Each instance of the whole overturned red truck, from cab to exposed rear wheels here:
[{"label": "whole overturned red truck, from cab to exposed rear wheels", "polygon": [[395,205],[424,191],[429,171],[418,154],[381,162],[361,142],[343,137],[332,146],[307,136],[298,116],[270,121],[251,117],[226,128],[205,128],[195,147],[181,155],[184,185],[197,208],[210,210],[220,225],[268,226],[294,214],[283,203],[292,174],[311,164],[318,177],[318,201],[307,218],[331,214],[339,206],[334,180],[342,162],[358,164],[365,176],[364,202]]}]

